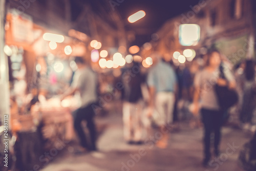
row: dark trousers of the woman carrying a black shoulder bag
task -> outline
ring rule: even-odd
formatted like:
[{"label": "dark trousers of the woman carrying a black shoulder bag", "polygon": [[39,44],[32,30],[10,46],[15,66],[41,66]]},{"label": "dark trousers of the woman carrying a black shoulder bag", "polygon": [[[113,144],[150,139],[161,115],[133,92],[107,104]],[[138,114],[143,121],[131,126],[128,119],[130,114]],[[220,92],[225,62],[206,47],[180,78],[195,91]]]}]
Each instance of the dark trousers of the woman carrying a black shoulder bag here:
[{"label": "dark trousers of the woman carrying a black shoulder bag", "polygon": [[210,158],[210,138],[214,133],[215,151],[219,152],[221,140],[221,126],[223,123],[223,112],[208,109],[201,109],[202,121],[204,124],[204,156]]}]

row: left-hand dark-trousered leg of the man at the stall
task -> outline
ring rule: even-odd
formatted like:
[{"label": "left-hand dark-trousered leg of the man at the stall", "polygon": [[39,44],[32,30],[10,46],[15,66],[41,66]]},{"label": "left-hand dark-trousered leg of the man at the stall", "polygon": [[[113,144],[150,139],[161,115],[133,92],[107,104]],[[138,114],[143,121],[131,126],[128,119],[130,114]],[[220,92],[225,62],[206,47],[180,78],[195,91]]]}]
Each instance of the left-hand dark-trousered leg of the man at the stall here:
[{"label": "left-hand dark-trousered leg of the man at the stall", "polygon": [[81,122],[84,119],[83,116],[85,115],[85,112],[86,111],[84,111],[84,109],[81,109],[81,108],[79,108],[78,110],[76,110],[74,112],[74,128],[75,128],[75,131],[80,139],[81,146],[88,148],[86,135],[84,134],[83,128],[81,125]]}]

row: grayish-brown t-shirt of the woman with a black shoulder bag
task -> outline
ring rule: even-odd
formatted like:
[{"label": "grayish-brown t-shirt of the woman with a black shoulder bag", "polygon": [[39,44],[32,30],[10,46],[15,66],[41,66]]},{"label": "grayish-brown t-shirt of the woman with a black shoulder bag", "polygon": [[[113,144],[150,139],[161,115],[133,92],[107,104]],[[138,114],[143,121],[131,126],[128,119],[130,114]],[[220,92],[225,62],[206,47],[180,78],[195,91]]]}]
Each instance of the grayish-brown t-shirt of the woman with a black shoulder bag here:
[{"label": "grayish-brown t-shirt of the woman with a black shoulder bag", "polygon": [[[220,71],[209,72],[206,69],[198,72],[195,77],[195,87],[200,88],[201,105],[204,109],[219,110],[217,95],[215,93],[215,84],[219,78]],[[233,75],[227,67],[224,66],[224,75],[228,81],[233,81]]]}]

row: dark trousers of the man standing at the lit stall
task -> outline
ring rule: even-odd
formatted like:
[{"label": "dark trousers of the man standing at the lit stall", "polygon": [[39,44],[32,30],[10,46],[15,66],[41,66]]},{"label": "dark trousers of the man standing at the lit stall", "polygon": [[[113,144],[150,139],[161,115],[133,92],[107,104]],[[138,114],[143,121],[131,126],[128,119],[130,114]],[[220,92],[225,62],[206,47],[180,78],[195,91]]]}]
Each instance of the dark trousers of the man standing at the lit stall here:
[{"label": "dark trousers of the man standing at the lit stall", "polygon": [[[87,105],[84,108],[77,109],[73,116],[74,116],[74,127],[77,132],[77,135],[80,139],[81,146],[89,149],[89,150],[96,150],[96,128],[94,123],[94,110],[92,108],[92,104]],[[88,144],[86,135],[84,134],[81,122],[85,120],[87,121],[87,127],[90,133],[90,140],[91,145]]]}]

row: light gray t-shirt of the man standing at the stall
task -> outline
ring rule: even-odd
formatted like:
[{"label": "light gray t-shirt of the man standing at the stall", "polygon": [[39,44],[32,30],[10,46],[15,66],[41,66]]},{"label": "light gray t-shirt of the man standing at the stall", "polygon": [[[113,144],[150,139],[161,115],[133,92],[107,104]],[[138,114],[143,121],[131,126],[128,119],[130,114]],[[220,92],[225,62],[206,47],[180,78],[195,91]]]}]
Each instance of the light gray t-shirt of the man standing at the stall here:
[{"label": "light gray t-shirt of the man standing at the stall", "polygon": [[97,76],[91,69],[77,70],[71,86],[79,89],[81,107],[97,101]]}]

